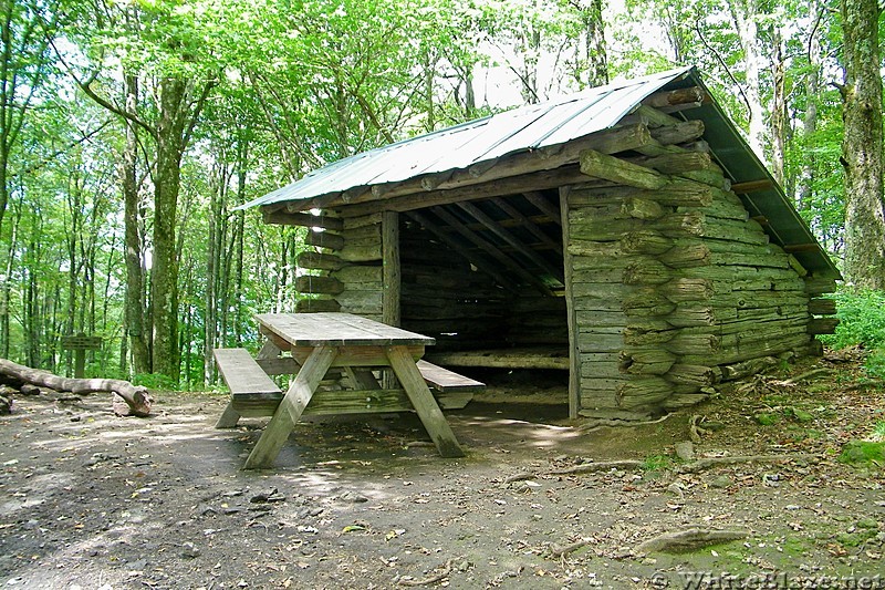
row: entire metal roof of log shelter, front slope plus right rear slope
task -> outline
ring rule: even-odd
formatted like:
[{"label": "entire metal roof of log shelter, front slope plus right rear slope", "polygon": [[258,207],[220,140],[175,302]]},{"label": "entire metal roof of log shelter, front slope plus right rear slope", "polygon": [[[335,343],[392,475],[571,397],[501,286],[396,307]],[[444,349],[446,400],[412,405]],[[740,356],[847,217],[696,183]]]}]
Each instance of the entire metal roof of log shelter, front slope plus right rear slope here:
[{"label": "entire metal roof of log shelter, front slope plus right rear slope", "polygon": [[[643,100],[659,90],[699,86],[709,95],[694,66],[616,82],[577,94],[533,104],[454,127],[405,139],[332,163],[300,180],[239,208],[304,200],[358,187],[402,183],[412,178],[466,169],[502,156],[569,143],[617,125]],[[818,276],[840,279],[829,255],[818,245],[792,201],[738,130],[712,101],[676,114],[705,124],[704,138],[717,163],[736,184],[768,180],[769,187],[739,195],[753,217],[779,246],[800,246],[793,256]]]}]

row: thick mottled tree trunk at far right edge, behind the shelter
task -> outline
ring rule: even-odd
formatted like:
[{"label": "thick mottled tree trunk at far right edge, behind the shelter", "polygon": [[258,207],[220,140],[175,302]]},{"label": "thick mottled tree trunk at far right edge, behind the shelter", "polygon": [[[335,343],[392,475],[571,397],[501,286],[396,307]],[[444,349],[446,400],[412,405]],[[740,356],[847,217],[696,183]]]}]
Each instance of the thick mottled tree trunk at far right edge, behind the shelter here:
[{"label": "thick mottled tree trunk at far right edge, behind the shelter", "polygon": [[845,273],[856,287],[868,289],[885,289],[878,13],[876,0],[842,0]]}]

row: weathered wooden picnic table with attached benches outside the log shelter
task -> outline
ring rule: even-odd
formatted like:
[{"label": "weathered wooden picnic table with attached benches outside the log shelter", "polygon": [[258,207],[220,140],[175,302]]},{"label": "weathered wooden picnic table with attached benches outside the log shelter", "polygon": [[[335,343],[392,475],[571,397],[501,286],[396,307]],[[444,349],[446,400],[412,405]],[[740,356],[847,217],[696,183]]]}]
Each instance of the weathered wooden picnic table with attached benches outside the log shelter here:
[{"label": "weathered wooden picnic table with attached benches outside the log shelter", "polygon": [[[350,313],[264,313],[256,319],[267,338],[257,358],[244,349],[215,351],[231,390],[216,427],[233,427],[241,416],[272,416],[246,469],[269,467],[304,414],[414,411],[441,456],[464,456],[437,401],[464,407],[485,384],[421,361],[433,338]],[[383,389],[373,373],[387,368],[398,387]],[[350,387],[319,389],[333,369],[342,371]],[[285,393],[271,379],[279,374],[295,375]]]}]

